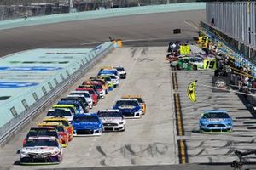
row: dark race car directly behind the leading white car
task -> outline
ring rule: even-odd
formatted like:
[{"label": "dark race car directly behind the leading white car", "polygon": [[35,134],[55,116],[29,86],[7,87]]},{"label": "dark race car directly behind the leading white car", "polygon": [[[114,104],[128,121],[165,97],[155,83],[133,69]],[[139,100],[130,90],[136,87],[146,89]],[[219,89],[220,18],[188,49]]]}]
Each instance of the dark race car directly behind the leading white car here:
[{"label": "dark race car directly behind the leading white car", "polygon": [[55,137],[56,139],[58,139],[58,141],[60,141],[60,136],[58,135],[55,127],[31,127],[26,134],[26,138],[23,139],[23,147],[25,146],[27,139],[37,136]]}]

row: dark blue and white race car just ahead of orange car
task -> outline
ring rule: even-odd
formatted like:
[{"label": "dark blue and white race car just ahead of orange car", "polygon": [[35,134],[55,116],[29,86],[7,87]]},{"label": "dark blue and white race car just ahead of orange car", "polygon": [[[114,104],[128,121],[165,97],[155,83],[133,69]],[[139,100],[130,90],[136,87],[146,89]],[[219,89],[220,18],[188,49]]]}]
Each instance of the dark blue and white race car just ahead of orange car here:
[{"label": "dark blue and white race car just ahead of orange car", "polygon": [[125,118],[141,118],[143,114],[137,99],[119,99],[113,105],[113,109],[119,109]]}]

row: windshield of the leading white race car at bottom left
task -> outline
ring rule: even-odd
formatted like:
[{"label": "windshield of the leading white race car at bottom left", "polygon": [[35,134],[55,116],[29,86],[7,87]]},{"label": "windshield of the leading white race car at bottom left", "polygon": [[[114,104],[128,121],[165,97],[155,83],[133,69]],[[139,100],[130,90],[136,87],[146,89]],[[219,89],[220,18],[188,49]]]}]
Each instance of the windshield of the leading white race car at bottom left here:
[{"label": "windshield of the leading white race car at bottom left", "polygon": [[35,147],[35,146],[58,147],[59,144],[54,139],[28,139],[25,145],[25,147]]}]

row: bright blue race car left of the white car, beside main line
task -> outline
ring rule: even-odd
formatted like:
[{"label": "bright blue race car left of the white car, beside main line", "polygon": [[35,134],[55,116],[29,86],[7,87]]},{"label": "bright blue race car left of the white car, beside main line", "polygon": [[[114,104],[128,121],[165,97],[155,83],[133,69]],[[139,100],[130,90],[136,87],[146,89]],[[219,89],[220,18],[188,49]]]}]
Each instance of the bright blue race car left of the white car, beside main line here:
[{"label": "bright blue race car left of the white car, beside main line", "polygon": [[73,136],[100,136],[103,125],[96,113],[76,114],[71,122]]}]

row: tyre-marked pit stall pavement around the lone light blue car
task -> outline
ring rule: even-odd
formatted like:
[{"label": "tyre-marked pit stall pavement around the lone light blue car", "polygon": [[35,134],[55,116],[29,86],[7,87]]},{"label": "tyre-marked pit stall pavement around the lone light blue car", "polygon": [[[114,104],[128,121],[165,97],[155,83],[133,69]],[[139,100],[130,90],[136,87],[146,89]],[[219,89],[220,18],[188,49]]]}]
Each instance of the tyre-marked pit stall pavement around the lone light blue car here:
[{"label": "tyre-marked pit stall pavement around the lone light blue car", "polygon": [[[200,86],[200,84],[212,86],[213,71],[172,72],[177,74],[177,93],[182,112],[183,133],[177,135],[177,140],[183,141],[183,148],[185,148],[183,161],[189,163],[231,162],[236,159],[234,150],[255,149],[256,122],[246,106],[242,104],[241,99],[236,94],[213,92],[210,88]],[[188,99],[187,88],[189,82],[195,80],[198,80],[197,101],[191,103]],[[200,115],[208,109],[229,111],[233,119],[233,133],[199,133]],[[181,148],[179,150],[182,154]],[[256,156],[250,156],[247,161],[255,161],[255,158]]]}]

